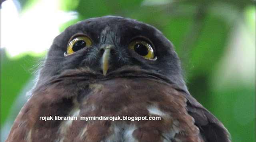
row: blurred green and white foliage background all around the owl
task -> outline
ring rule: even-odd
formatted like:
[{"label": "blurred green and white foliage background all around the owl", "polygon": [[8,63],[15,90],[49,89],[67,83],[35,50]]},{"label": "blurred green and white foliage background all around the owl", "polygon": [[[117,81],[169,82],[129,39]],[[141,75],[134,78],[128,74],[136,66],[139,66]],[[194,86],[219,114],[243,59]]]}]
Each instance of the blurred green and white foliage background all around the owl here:
[{"label": "blurred green and white foliage background all around the owl", "polygon": [[77,21],[115,15],[162,31],[190,93],[232,142],[255,142],[255,0],[6,0],[0,14],[1,141],[54,37]]}]

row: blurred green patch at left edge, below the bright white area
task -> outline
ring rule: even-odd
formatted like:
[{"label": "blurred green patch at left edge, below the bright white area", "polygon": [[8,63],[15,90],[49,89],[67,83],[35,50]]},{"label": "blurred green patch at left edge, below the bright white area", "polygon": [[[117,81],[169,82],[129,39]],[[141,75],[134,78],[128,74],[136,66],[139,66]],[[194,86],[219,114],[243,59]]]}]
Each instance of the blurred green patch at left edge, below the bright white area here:
[{"label": "blurred green patch at left edge, below the bright white area", "polygon": [[4,49],[1,49],[1,126],[8,116],[16,96],[32,76],[31,68],[37,64],[37,60],[38,58],[31,56],[10,60]]}]

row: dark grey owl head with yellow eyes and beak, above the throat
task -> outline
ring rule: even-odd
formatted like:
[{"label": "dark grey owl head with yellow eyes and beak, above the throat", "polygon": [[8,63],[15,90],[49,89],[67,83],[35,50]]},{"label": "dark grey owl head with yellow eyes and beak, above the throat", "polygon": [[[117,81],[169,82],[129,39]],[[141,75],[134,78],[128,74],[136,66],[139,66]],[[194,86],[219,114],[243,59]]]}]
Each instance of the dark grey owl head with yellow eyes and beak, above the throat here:
[{"label": "dark grey owl head with yellow eyes and beak, above the throat", "polygon": [[66,28],[54,39],[38,84],[77,68],[103,76],[140,68],[162,74],[186,90],[172,43],[155,27],[134,19],[104,16]]}]

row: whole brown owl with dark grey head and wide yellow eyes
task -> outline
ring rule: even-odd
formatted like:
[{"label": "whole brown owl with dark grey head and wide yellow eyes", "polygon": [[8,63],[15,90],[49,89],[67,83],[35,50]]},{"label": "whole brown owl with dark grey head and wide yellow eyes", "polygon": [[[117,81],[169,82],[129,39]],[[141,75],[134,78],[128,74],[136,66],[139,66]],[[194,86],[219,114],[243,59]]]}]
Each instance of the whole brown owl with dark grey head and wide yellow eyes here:
[{"label": "whole brown owl with dark grey head and wide yellow eyes", "polygon": [[230,142],[188,92],[172,43],[146,23],[75,23],[38,70],[6,142]]}]

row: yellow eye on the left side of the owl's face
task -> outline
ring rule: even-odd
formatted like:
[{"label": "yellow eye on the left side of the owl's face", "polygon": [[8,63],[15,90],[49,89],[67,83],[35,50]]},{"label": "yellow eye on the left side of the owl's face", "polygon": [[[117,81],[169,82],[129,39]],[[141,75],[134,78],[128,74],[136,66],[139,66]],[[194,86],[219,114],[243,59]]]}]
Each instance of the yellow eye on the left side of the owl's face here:
[{"label": "yellow eye on the left side of the owl's face", "polygon": [[67,54],[72,54],[84,47],[92,45],[92,41],[86,36],[78,36],[68,43]]}]

